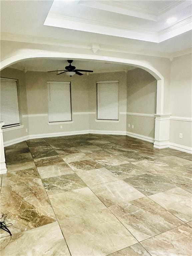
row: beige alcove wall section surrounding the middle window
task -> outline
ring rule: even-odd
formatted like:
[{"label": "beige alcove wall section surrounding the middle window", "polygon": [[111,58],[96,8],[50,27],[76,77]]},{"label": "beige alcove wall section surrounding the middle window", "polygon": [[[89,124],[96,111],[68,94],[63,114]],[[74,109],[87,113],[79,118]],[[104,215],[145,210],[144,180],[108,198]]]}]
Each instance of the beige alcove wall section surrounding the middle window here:
[{"label": "beige alcove wall section surrounding the middle window", "polygon": [[[48,114],[47,81],[71,81],[71,107],[73,112],[88,112],[88,77],[56,75],[56,73],[27,72],[26,90],[29,114],[30,134],[46,134],[81,131],[89,129],[88,115],[72,115],[73,123],[48,124],[48,116],[37,114]],[[37,115],[37,116],[30,116]],[[60,126],[63,126],[61,129]]]}]

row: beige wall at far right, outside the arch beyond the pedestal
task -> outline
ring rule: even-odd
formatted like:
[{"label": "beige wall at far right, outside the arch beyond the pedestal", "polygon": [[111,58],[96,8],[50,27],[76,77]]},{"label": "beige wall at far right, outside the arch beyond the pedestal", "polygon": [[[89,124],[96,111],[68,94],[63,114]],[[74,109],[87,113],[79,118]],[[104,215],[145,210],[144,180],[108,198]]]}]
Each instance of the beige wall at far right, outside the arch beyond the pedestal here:
[{"label": "beige wall at far right, outside the arch beyond the pedestal", "polygon": [[[171,63],[170,113],[192,118],[192,54]],[[183,139],[179,133],[183,133]],[[170,120],[170,142],[192,147],[192,122]]]}]

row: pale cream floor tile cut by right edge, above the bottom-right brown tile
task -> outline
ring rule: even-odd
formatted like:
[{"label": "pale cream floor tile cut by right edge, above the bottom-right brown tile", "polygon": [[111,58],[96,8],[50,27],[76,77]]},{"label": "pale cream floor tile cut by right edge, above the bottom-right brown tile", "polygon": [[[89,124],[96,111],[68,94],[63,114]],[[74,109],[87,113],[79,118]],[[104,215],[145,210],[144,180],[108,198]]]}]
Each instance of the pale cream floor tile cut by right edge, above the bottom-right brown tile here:
[{"label": "pale cream floor tile cut by right edge, above the bottom-right brown tile", "polygon": [[173,188],[150,198],[184,222],[192,220],[191,193],[182,188]]}]

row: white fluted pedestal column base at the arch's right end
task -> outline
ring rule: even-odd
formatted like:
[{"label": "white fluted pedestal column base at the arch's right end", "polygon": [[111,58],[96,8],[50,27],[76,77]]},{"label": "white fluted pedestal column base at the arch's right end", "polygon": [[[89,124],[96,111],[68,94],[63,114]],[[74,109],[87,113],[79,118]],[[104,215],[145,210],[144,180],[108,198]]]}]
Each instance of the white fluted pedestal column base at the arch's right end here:
[{"label": "white fluted pedestal column base at the arch's right end", "polygon": [[154,114],[155,116],[155,142],[154,148],[169,147],[169,126],[171,114]]}]

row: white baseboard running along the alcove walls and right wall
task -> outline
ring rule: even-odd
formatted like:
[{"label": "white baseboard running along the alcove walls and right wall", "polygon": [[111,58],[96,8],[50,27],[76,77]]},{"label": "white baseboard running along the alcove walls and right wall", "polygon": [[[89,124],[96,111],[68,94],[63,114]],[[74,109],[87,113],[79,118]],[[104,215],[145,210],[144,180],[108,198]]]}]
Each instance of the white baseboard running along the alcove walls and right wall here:
[{"label": "white baseboard running along the alcove walls and right wall", "polygon": [[[25,140],[29,140],[29,139],[37,139],[37,138],[48,138],[48,137],[58,137],[58,136],[68,136],[68,135],[78,135],[78,134],[88,134],[88,133],[93,133],[93,134],[109,134],[109,135],[127,135],[136,139],[140,139],[140,140],[145,140],[151,143],[154,143],[154,138],[152,137],[148,137],[145,135],[141,135],[141,134],[137,134],[137,133],[133,133],[133,132],[125,132],[125,131],[107,131],[107,130],[82,130],[82,131],[71,131],[71,132],[58,132],[58,133],[41,133],[41,134],[31,134],[31,135],[27,135],[27,136],[23,136],[20,138],[16,138],[13,140],[8,140],[4,142],[4,147],[25,141]],[[192,154],[192,148],[187,147],[187,146],[183,146],[180,144],[176,144],[176,143],[172,143],[172,142],[165,142],[164,145],[161,146],[159,145],[155,145],[154,143],[154,147],[155,148],[172,148],[172,149],[176,149],[179,151],[183,151],[189,154]]]}]

